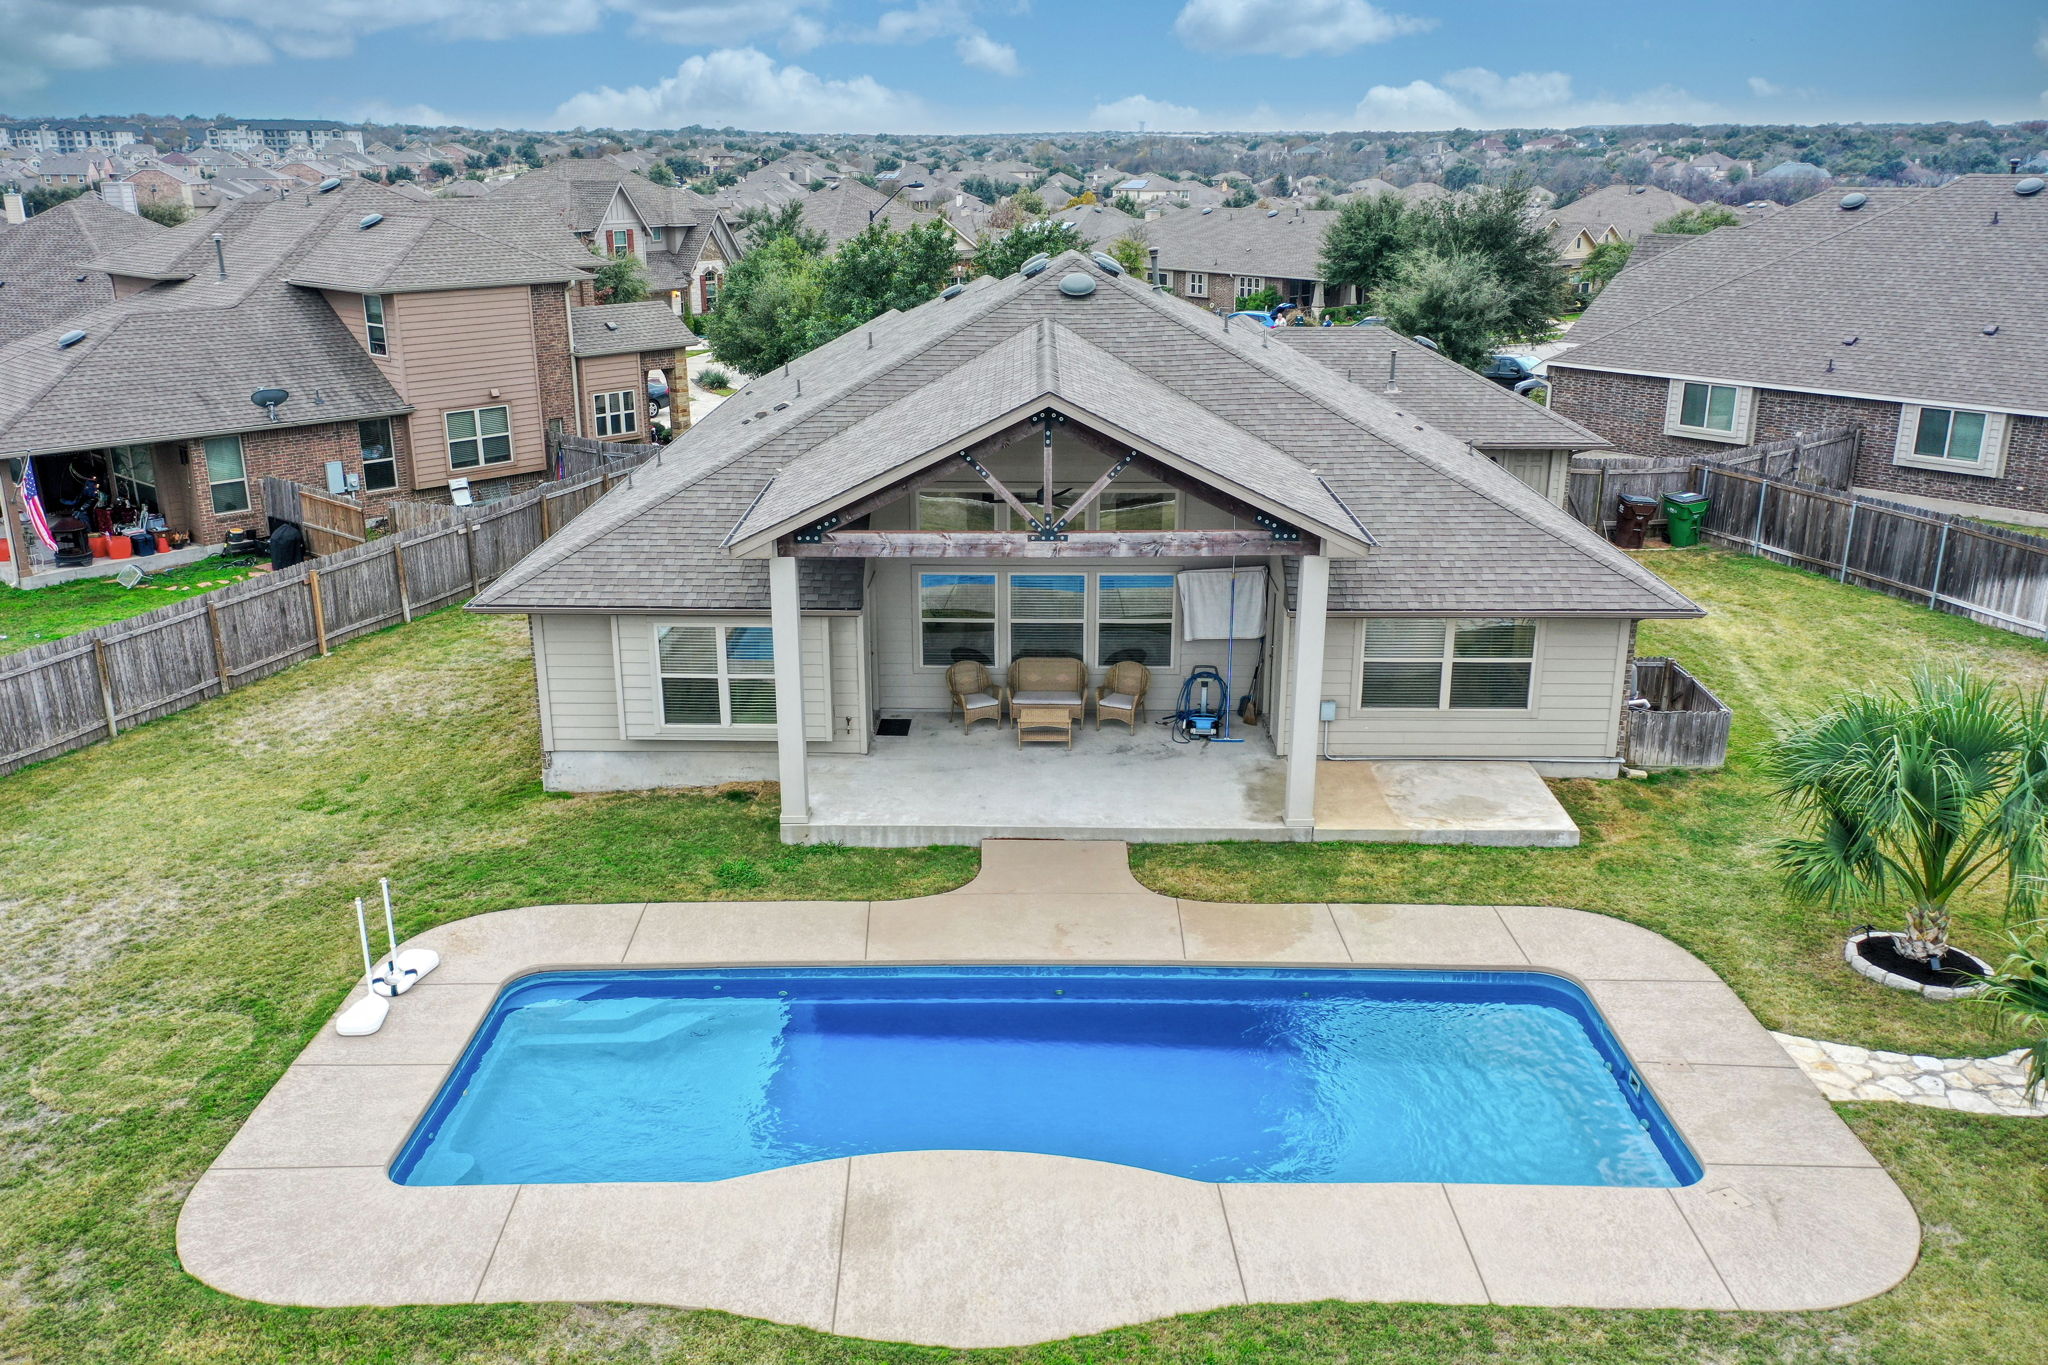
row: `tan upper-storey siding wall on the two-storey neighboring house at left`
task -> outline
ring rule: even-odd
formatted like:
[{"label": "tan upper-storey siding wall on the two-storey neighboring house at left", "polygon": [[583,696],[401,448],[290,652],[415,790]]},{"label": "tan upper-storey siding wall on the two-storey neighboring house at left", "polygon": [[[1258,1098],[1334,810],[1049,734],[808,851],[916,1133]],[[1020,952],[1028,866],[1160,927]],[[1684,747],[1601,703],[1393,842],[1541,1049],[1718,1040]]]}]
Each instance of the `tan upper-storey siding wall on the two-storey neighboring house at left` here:
[{"label": "tan upper-storey siding wall on the two-storey neighboring house at left", "polygon": [[[399,393],[416,409],[414,487],[547,469],[532,301],[526,287],[393,295],[387,315],[395,319],[399,338],[391,350],[403,360]],[[451,469],[442,413],[500,403],[512,409],[512,460]]]}]

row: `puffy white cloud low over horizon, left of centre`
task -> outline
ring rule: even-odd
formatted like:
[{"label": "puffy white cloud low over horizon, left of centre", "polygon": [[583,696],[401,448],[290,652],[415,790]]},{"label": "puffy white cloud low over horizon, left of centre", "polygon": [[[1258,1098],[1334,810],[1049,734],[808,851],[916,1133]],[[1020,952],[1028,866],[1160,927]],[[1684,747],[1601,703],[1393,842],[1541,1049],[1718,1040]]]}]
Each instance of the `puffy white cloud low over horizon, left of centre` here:
[{"label": "puffy white cloud low over horizon, left of centre", "polygon": [[918,96],[891,90],[872,76],[827,80],[801,65],[776,65],[754,47],[721,47],[688,57],[674,76],[653,86],[600,86],[555,111],[559,127],[705,123],[805,133],[901,129],[922,117]]}]

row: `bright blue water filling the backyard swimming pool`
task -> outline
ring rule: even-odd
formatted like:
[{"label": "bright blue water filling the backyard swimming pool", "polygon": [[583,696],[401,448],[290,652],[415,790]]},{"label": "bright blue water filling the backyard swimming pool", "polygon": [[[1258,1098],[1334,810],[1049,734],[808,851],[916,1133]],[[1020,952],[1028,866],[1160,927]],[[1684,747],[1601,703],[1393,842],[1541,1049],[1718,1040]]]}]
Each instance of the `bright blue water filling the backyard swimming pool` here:
[{"label": "bright blue water filling the backyard swimming pool", "polygon": [[1700,1179],[1563,978],[1194,966],[526,976],[391,1177],[721,1181],[932,1148],[1200,1181]]}]

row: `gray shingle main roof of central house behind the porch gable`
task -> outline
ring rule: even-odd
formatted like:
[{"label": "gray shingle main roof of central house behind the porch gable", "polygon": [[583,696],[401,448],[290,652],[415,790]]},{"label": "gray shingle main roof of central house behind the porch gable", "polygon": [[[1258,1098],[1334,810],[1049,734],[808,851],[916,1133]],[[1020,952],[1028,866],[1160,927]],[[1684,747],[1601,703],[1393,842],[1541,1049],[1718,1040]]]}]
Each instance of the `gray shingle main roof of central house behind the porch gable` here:
[{"label": "gray shingle main roof of central house behind the porch gable", "polygon": [[[1094,266],[1069,254],[1034,278],[977,282],[956,299],[883,315],[788,372],[752,381],[674,442],[659,467],[641,467],[631,487],[528,555],[475,606],[766,610],[766,563],[733,559],[727,536],[776,471],[1014,346],[1020,334],[1036,338],[1051,319],[1073,338],[1063,354],[1081,358],[1077,407],[1120,401],[1122,420],[1145,428],[1130,434],[1163,450],[1206,444],[1212,430],[1235,428],[1233,446],[1278,452],[1298,467],[1290,479],[1327,485],[1335,503],[1358,514],[1376,548],[1333,565],[1331,610],[1696,614],[1663,579],[1458,438],[1292,346],[1247,327],[1225,329],[1221,319],[1122,276],[1098,274],[1090,297],[1067,299],[1057,291],[1067,270]],[[1069,383],[1065,375],[1061,383]],[[1204,415],[1190,420],[1190,407]],[[1184,420],[1200,426],[1182,428]],[[803,565],[807,602],[844,602],[821,587],[819,563],[831,561]]]}]

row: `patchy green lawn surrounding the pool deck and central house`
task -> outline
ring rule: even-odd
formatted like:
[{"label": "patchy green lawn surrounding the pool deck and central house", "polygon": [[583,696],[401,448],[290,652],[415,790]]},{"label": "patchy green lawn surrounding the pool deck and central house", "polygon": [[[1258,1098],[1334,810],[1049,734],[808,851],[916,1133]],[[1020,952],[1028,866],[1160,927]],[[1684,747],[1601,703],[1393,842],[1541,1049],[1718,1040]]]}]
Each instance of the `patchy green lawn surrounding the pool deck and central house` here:
[{"label": "patchy green lawn surrounding the pool deck and central house", "polygon": [[[1567,784],[1577,851],[1155,847],[1202,896],[1585,905],[1679,937],[1772,1023],[1942,1050],[1995,1044],[1831,960],[1839,925],[1763,870],[1755,776],[1774,720],[1909,659],[2048,675],[2048,649],[1718,553],[1649,555],[1716,610],[1647,649],[1739,710],[1726,774]],[[1919,1269],[1823,1314],[1241,1308],[1030,1351],[840,1340],[631,1306],[291,1310],[180,1273],[199,1173],[340,1001],[346,902],[389,874],[406,931],[512,905],[911,896],[969,849],[791,849],[772,790],[547,796],[526,632],[440,612],[121,739],[0,778],[0,1361],[1008,1363],[1511,1361],[1935,1365],[2040,1361],[2048,1124],[1843,1105],[1927,1226]],[[1993,919],[1966,917],[1982,945]],[[229,964],[233,970],[229,970]]]}]

